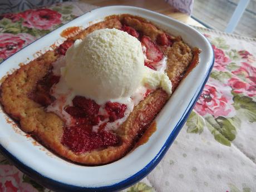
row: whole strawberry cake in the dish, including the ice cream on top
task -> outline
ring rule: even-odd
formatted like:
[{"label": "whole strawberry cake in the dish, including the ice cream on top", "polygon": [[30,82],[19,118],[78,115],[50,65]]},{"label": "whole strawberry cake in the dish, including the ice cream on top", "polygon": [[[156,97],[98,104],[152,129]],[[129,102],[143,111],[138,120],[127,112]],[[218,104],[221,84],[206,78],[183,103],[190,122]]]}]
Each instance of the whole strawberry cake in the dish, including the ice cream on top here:
[{"label": "whole strawberry cake in the dish, including the ice cream on top", "polygon": [[58,155],[107,164],[135,146],[199,53],[144,18],[110,16],[8,75],[0,101]]}]

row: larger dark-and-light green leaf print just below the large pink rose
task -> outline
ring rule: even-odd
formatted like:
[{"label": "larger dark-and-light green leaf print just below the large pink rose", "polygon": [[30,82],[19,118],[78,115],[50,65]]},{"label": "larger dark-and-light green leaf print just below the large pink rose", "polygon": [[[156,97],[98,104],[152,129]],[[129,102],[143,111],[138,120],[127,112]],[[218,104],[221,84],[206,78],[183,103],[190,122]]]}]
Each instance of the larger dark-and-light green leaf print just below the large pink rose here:
[{"label": "larger dark-and-light green leaf print just below the large pink rose", "polygon": [[214,135],[214,139],[227,146],[230,146],[230,141],[235,139],[235,135],[237,135],[236,127],[240,127],[241,123],[237,117],[225,118],[219,116],[214,119],[213,116],[209,115],[205,120],[206,126]]}]

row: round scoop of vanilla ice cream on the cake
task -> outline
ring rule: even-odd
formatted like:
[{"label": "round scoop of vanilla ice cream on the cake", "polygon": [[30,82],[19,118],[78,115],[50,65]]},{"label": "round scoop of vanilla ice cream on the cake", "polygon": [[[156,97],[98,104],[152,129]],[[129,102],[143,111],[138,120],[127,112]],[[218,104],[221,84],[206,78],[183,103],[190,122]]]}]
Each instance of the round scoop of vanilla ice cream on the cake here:
[{"label": "round scoop of vanilla ice cream on the cake", "polygon": [[67,50],[62,76],[77,95],[104,104],[131,96],[141,85],[144,70],[137,38],[118,29],[100,29]]}]

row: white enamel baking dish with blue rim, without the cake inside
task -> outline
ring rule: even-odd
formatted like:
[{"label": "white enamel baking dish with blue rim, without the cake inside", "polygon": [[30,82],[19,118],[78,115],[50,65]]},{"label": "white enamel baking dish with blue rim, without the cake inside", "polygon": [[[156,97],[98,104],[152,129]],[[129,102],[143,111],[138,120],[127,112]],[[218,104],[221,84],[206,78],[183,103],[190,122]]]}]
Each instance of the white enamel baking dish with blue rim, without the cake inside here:
[{"label": "white enamel baking dish with blue rim, without the cake inside", "polygon": [[39,40],[24,47],[0,65],[0,78],[19,63],[28,63],[37,51],[45,52],[54,42],[61,42],[60,33],[71,26],[87,27],[111,14],[129,13],[144,17],[173,35],[180,35],[191,47],[198,47],[200,63],[180,83],[164,109],[156,117],[157,130],[146,144],[114,163],[103,166],[83,166],[64,160],[13,124],[0,111],[0,150],[20,170],[38,183],[56,191],[116,191],[130,186],[150,173],[169,149],[208,79],[214,63],[210,43],[194,28],[159,13],[127,6],[94,9],[83,14]]}]

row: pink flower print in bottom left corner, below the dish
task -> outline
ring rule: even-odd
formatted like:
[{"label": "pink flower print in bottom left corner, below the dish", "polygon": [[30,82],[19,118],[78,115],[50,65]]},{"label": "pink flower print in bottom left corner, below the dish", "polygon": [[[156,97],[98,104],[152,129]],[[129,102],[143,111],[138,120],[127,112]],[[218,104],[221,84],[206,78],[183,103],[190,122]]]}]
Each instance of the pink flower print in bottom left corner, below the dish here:
[{"label": "pink flower print in bottom left corner, below the dish", "polygon": [[0,165],[0,191],[3,192],[36,192],[32,185],[24,183],[23,174],[11,165]]}]

